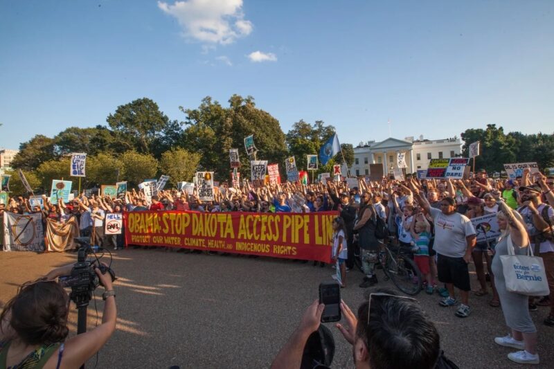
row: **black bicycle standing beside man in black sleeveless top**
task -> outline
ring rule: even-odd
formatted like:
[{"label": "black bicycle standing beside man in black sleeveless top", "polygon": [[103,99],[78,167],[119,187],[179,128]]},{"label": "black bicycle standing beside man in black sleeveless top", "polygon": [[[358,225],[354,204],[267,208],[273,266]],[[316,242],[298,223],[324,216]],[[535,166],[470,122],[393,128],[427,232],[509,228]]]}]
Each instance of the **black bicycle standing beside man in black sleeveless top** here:
[{"label": "black bicycle standing beside man in black sleeveless top", "polygon": [[[378,264],[381,265],[385,280],[391,279],[397,289],[408,295],[417,295],[423,288],[423,276],[418,266],[411,260],[412,251],[397,244],[395,237],[388,237],[389,244],[380,244]],[[354,247],[354,264],[360,270],[361,251],[357,241]]]}]

